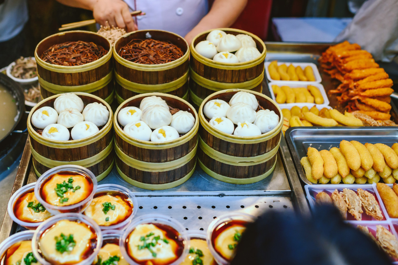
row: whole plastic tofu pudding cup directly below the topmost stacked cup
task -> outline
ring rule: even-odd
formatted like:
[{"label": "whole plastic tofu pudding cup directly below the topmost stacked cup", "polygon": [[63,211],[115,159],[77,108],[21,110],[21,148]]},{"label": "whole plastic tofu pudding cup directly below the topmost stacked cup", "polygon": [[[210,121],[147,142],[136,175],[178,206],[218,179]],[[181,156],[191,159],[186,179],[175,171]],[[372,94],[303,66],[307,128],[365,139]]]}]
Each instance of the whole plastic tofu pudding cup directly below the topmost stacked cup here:
[{"label": "whole plastic tofu pudding cup directly below the topmost stacked cup", "polygon": [[51,217],[32,238],[33,255],[43,265],[90,265],[101,247],[100,226],[80,213]]}]

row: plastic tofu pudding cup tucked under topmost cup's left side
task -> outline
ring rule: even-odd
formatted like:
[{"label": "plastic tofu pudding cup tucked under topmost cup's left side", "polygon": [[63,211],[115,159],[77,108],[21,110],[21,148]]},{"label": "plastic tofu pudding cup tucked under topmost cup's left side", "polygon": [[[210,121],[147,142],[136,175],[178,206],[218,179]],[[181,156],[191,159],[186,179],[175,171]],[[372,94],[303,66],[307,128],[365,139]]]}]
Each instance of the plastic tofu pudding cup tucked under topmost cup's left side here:
[{"label": "plastic tofu pudding cup tucked under topmost cup's left side", "polygon": [[17,190],[8,201],[7,212],[12,221],[27,229],[36,229],[52,214],[34,197],[35,184],[27,184]]}]

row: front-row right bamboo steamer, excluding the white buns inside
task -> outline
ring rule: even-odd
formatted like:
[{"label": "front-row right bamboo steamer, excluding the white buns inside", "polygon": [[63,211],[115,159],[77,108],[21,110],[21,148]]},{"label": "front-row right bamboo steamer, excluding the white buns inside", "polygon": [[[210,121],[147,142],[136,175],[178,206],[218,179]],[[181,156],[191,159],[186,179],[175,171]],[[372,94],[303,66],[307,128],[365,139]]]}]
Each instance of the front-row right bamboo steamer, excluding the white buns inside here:
[{"label": "front-row right bamboo steamer, excluding the white buns inside", "polygon": [[[254,94],[260,106],[273,110],[279,116],[278,125],[270,132],[253,137],[231,135],[211,126],[203,114],[203,106],[212,99],[229,102],[239,91]],[[250,184],[263,180],[273,172],[281,141],[283,115],[272,99],[256,91],[218,91],[202,102],[199,121],[197,162],[207,174],[222,182]]]}]

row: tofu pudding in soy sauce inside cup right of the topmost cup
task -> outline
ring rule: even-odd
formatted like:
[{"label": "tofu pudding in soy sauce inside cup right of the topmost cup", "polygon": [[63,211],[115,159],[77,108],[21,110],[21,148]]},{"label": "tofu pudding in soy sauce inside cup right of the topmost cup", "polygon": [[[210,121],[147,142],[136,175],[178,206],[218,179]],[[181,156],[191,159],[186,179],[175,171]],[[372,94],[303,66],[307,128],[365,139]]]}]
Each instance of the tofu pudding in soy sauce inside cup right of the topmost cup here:
[{"label": "tofu pudding in soy sauce inside cup right of the topmost cup", "polygon": [[96,193],[84,215],[100,226],[111,226],[125,221],[133,213],[133,202],[119,191]]}]

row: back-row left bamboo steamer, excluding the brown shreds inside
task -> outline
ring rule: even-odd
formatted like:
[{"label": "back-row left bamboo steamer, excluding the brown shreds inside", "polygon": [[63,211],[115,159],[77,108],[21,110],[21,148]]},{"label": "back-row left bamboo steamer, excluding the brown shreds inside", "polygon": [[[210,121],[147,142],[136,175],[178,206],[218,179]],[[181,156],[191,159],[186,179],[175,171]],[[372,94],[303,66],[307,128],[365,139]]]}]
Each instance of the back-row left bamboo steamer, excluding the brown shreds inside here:
[{"label": "back-row left bamboo steamer, excluding the brown shreds inside", "polygon": [[[103,46],[108,52],[88,64],[60,66],[44,62],[40,56],[54,44],[66,41],[87,41]],[[51,35],[37,44],[35,59],[43,99],[66,92],[86,92],[96,95],[109,104],[114,99],[113,60],[111,43],[90,31],[66,31]]]}]

